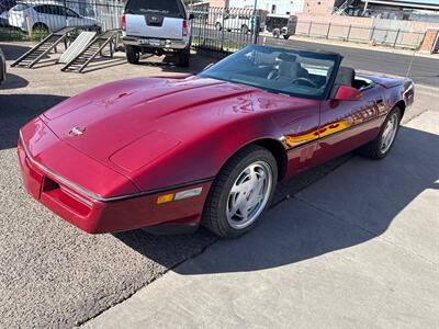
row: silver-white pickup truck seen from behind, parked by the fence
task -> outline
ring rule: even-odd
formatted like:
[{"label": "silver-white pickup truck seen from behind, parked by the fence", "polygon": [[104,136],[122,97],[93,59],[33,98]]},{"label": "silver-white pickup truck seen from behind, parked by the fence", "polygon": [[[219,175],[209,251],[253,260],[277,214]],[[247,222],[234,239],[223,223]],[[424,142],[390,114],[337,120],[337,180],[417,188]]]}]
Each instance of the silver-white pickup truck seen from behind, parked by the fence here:
[{"label": "silver-white pickup truck seen from behind, parked by the fence", "polygon": [[122,16],[126,59],[137,64],[140,54],[179,56],[189,66],[191,19],[182,0],[128,0]]}]

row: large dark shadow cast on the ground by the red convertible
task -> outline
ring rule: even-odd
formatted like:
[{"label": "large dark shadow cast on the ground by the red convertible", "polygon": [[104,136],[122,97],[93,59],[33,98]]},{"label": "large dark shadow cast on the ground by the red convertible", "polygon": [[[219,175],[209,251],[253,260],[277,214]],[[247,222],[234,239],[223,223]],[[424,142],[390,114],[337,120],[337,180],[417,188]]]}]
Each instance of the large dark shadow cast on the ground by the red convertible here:
[{"label": "large dark shadow cast on the ground by the red convertible", "polygon": [[[396,145],[386,159],[373,161],[351,157],[346,166],[309,186],[309,193],[304,191],[306,197],[299,193],[284,203],[278,203],[249,234],[221,243],[225,250],[216,250],[216,254],[224,257],[203,260],[201,265],[184,263],[175,268],[175,271],[180,274],[257,271],[312,259],[373,239],[386,231],[397,214],[418,195],[427,189],[439,189],[439,148],[431,149],[434,145],[439,145],[439,136],[402,127]],[[428,156],[426,149],[429,150]],[[342,161],[338,166],[340,163]],[[327,170],[317,168],[319,171],[327,173]],[[302,173],[284,185],[281,184],[281,191],[278,192],[281,195],[278,198],[294,195],[297,192],[297,179],[311,182],[316,180],[312,172]],[[320,188],[322,191],[318,191]],[[361,192],[352,193],[356,189]],[[309,196],[313,193],[320,200],[323,193],[328,193],[328,197],[329,194],[331,197],[339,196],[339,201],[331,201],[330,213],[325,209],[316,212],[313,196]],[[346,208],[350,208],[350,216],[338,216],[349,214]],[[372,211],[365,214],[362,213],[364,209]],[[210,234],[202,229],[198,235]],[[160,259],[155,258],[154,248],[145,248],[143,245],[143,239],[149,240],[148,234],[133,231],[117,234],[115,237],[160,263]],[[213,242],[215,238],[212,239]]]}]

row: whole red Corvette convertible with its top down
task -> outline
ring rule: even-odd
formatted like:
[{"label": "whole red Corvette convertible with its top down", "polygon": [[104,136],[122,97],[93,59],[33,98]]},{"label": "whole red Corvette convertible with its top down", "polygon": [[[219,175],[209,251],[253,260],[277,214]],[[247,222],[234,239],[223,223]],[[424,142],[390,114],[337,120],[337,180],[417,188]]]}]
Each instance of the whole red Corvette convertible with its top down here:
[{"label": "whole red Corvette convertible with its top down", "polygon": [[27,192],[92,234],[249,230],[277,182],[358,149],[384,158],[408,79],[357,76],[334,53],[248,46],[196,76],[86,91],[20,131]]}]

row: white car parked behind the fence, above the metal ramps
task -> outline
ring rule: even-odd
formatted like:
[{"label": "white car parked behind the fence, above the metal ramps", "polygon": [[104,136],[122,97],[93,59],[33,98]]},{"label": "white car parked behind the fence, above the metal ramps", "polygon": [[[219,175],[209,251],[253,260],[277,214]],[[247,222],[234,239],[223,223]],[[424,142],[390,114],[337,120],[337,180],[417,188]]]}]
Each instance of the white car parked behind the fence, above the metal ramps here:
[{"label": "white car parked behind the fence, above the metal ramps", "polygon": [[[27,19],[26,19],[27,18]],[[9,24],[27,31],[27,20],[32,31],[53,32],[65,26],[91,26],[99,29],[92,18],[85,18],[76,11],[58,3],[19,3],[9,11]]]}]

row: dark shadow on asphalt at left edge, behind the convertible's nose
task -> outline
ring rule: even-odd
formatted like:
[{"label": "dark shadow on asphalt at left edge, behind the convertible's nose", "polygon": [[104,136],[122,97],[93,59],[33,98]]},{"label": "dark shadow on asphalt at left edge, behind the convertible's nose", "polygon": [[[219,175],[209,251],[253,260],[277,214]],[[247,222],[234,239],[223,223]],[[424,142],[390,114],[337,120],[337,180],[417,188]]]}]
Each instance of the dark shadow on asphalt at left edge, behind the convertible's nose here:
[{"label": "dark shadow on asphalt at left edge, behind the convertible's nose", "polygon": [[25,123],[66,99],[49,94],[0,94],[0,150],[16,147],[19,129]]}]

